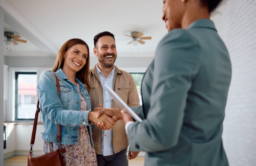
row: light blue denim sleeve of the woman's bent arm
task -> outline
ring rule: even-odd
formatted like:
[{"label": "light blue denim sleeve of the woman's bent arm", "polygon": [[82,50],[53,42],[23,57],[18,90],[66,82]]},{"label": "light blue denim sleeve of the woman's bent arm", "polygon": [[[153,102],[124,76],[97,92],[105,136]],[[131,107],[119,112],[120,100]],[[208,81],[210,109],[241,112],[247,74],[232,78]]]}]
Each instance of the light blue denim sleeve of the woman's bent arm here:
[{"label": "light blue denim sleeve of the woman's bent arm", "polygon": [[[38,100],[41,110],[48,119],[55,124],[64,126],[88,126],[90,111],[65,110],[56,86],[55,75],[50,71],[43,71],[37,84]],[[85,124],[83,122],[85,121]]]}]

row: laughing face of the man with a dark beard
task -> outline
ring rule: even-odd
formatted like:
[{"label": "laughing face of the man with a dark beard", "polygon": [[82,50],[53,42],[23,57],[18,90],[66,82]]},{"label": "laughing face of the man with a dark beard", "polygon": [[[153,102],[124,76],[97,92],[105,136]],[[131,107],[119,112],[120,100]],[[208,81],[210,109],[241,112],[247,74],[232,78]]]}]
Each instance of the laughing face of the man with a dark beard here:
[{"label": "laughing face of the man with a dark beard", "polygon": [[117,59],[116,42],[111,36],[102,36],[93,52],[102,67],[111,68]]}]

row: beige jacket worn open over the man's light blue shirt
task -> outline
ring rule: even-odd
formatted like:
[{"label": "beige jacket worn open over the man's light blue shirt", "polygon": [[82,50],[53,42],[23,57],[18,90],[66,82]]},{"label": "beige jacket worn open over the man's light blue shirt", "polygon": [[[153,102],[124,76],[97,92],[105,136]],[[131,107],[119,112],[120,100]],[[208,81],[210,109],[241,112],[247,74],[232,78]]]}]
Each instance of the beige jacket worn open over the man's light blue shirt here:
[{"label": "beige jacket worn open over the man's light blue shirt", "polygon": [[[91,110],[94,111],[94,108],[103,104],[103,91],[96,65],[89,71],[89,82],[91,86],[91,90],[89,91],[89,95],[91,97]],[[123,99],[124,102],[127,103],[129,107],[139,106],[139,95],[132,75],[118,69],[117,66],[115,66],[113,90]],[[112,100],[112,108],[120,108],[114,100]],[[127,148],[129,145],[123,120],[117,121],[112,130],[113,150],[114,153],[117,153]],[[92,139],[96,154],[101,154],[100,128],[96,127],[92,130]]]}]

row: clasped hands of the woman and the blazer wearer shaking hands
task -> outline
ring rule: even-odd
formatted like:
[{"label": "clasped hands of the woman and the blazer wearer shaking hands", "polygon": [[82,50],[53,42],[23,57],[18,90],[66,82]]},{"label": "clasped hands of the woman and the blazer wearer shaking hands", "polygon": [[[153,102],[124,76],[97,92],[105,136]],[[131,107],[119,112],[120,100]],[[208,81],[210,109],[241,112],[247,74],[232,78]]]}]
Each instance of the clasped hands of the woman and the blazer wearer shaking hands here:
[{"label": "clasped hands of the woman and the blazer wearer shaking hands", "polygon": [[102,109],[102,104],[94,109],[96,118],[94,124],[103,130],[110,130],[116,125],[116,121],[123,119],[122,109],[105,108]]}]

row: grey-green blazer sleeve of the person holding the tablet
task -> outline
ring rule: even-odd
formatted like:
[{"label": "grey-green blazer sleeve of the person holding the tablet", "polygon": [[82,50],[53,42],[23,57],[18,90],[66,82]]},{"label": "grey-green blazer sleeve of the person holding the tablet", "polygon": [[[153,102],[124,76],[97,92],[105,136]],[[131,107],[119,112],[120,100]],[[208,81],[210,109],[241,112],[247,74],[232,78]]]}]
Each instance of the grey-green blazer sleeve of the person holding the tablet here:
[{"label": "grey-green blazer sleeve of the person holding the tablet", "polygon": [[172,30],[160,41],[147,118],[128,126],[131,151],[156,152],[176,146],[199,58],[197,42],[186,30]]}]

